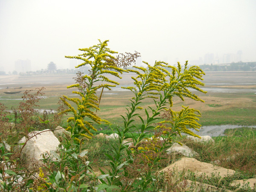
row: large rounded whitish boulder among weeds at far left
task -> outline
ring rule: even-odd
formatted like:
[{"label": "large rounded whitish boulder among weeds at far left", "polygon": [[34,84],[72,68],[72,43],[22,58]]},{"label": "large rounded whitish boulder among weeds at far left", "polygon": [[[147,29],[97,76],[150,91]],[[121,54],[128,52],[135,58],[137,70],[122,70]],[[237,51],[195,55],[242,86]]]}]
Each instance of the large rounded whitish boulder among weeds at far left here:
[{"label": "large rounded whitish boulder among weeds at far left", "polygon": [[[59,140],[57,137],[55,137],[51,130],[46,129],[43,131],[33,131],[29,135],[35,134],[36,132],[41,133],[28,140],[21,151],[21,159],[24,161],[24,163],[26,163],[27,166],[30,166],[34,161],[39,161],[42,159],[42,154],[46,152],[50,154],[50,151],[56,151],[60,145]],[[25,137],[19,141],[19,143],[25,142]]]}]

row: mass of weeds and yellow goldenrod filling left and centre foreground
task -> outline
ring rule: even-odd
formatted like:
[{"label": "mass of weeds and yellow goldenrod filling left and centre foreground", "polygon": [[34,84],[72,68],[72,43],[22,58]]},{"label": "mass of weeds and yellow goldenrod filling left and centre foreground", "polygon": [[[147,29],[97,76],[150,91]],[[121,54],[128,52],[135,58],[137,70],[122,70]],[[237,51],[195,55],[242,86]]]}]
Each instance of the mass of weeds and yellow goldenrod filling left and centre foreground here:
[{"label": "mass of weeds and yellow goldenrod filling left and centre foreground", "polygon": [[[181,140],[177,137],[188,134],[199,137],[193,131],[199,131],[198,123],[200,111],[182,106],[181,111],[173,111],[173,98],[190,98],[197,102],[204,102],[190,89],[206,93],[200,87],[204,72],[198,66],[188,67],[188,61],[182,66],[180,63],[173,67],[166,62],[156,61],[153,66],[147,62],[147,67],[133,66],[140,56],[138,52],[118,54],[109,49],[108,41],[99,41],[93,47],[79,49],[78,56],[66,56],[70,59],[79,59],[83,63],[77,67],[90,65],[90,73],[77,73],[76,84],[73,88],[77,97],[70,98],[63,95],[60,100],[58,113],[44,114],[39,117],[34,108],[42,96],[42,87],[36,93],[32,90],[24,93],[24,102],[21,102],[15,114],[15,124],[11,125],[8,112],[0,104],[0,189],[4,192],[31,191],[31,192],[160,192],[160,191],[193,191],[186,183],[183,173],[158,172],[162,166],[172,161],[166,154],[166,148]],[[134,73],[132,77],[134,87],[122,87],[130,90],[133,97],[129,100],[126,113],[122,114],[122,124],[112,126],[108,119],[98,116],[101,106],[101,97],[105,89],[119,84],[111,77],[122,78],[122,73]],[[97,95],[96,91],[100,90]],[[143,108],[143,102],[154,103],[153,106]],[[71,105],[72,103],[72,105]],[[216,107],[216,106],[213,106]],[[68,114],[65,126],[69,134],[59,137],[61,145],[58,151],[44,154],[44,166],[29,169],[20,160],[20,153],[26,142],[40,132],[49,128],[54,131],[61,124],[63,115]],[[136,122],[136,123],[135,123]],[[138,123],[139,122],[139,123]],[[96,137],[95,125],[108,126],[111,133],[117,133],[116,140],[107,140]],[[154,130],[154,133],[149,132]],[[21,136],[26,142],[17,144]],[[229,137],[228,137],[229,139]],[[129,141],[130,145],[125,144]],[[7,141],[7,143],[6,143]],[[95,142],[96,141],[96,142]],[[185,140],[186,141],[186,140]],[[225,141],[227,143],[227,141]],[[215,150],[228,147],[214,146]],[[189,143],[188,143],[189,144]],[[8,146],[10,145],[10,148]],[[199,145],[199,144],[198,144]],[[209,144],[197,146],[199,158],[209,161],[211,157],[204,157],[204,150],[211,147]],[[216,154],[214,154],[216,156]],[[230,163],[231,165],[231,163]],[[247,164],[246,164],[247,165]],[[106,166],[107,169],[95,167]],[[254,165],[247,165],[254,166]],[[241,168],[241,170],[247,168]],[[25,170],[25,171],[24,171]],[[252,174],[252,173],[249,173]],[[178,182],[183,181],[183,182]]]}]

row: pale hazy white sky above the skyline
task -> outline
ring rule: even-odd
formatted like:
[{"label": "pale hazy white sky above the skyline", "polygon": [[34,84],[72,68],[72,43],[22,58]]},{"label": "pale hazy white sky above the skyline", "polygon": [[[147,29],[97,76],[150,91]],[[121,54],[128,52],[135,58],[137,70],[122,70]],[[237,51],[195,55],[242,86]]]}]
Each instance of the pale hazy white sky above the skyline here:
[{"label": "pale hazy white sky above the skyline", "polygon": [[65,55],[108,39],[118,52],[173,64],[242,50],[256,61],[256,0],[0,0],[0,68],[69,68]]}]

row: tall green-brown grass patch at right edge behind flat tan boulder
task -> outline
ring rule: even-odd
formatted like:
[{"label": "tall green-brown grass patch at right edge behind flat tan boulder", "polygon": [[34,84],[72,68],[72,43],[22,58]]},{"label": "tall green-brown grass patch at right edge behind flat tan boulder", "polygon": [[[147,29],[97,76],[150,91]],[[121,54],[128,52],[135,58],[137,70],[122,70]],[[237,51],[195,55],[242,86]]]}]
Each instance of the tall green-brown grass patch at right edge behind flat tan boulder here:
[{"label": "tall green-brown grass patch at right edge behind flat tan boulder", "polygon": [[198,152],[199,161],[217,161],[224,168],[256,176],[256,128],[227,129],[225,134],[227,136],[213,137],[215,143],[195,143],[186,138],[182,142]]}]

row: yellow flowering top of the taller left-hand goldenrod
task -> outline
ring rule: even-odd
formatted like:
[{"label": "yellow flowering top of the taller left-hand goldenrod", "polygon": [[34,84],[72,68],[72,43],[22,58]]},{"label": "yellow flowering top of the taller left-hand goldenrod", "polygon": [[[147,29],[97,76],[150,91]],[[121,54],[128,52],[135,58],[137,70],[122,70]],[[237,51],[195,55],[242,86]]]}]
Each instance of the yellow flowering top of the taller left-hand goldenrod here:
[{"label": "yellow flowering top of the taller left-hand goldenrod", "polygon": [[[108,40],[103,42],[99,40],[99,44],[97,45],[85,49],[79,49],[80,51],[83,51],[83,53],[78,56],[65,56],[66,58],[82,60],[83,63],[76,66],[77,68],[84,65],[90,65],[91,67],[88,75],[82,76],[82,73],[78,73],[77,78],[75,78],[76,84],[67,87],[78,88],[78,91],[73,91],[72,93],[77,94],[81,99],[77,97],[61,97],[62,102],[68,108],[66,111],[61,113],[73,113],[73,117],[67,119],[68,128],[66,130],[71,132],[72,138],[77,143],[81,142],[78,138],[79,136],[91,138],[93,134],[90,130],[97,131],[93,127],[93,122],[98,124],[101,122],[109,123],[96,115],[96,110],[100,110],[99,98],[96,95],[96,90],[99,90],[100,88],[107,88],[110,90],[111,87],[115,87],[116,84],[119,83],[109,79],[105,75],[110,74],[121,79],[119,73],[128,72],[127,70],[121,69],[118,64],[116,64],[116,58],[113,54],[117,52],[112,51],[107,46]],[[96,82],[102,83],[95,85]],[[73,108],[68,101],[76,104],[76,109]]]}]

